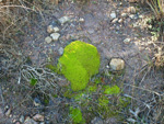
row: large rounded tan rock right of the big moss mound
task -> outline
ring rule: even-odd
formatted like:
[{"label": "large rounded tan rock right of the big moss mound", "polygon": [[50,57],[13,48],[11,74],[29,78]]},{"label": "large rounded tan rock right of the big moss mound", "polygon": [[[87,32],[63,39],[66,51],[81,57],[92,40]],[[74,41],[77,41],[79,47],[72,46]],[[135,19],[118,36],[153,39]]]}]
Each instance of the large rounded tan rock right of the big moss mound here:
[{"label": "large rounded tan rock right of the big moss mound", "polygon": [[125,68],[125,61],[120,58],[112,58],[109,63],[109,67],[112,70],[122,70]]}]

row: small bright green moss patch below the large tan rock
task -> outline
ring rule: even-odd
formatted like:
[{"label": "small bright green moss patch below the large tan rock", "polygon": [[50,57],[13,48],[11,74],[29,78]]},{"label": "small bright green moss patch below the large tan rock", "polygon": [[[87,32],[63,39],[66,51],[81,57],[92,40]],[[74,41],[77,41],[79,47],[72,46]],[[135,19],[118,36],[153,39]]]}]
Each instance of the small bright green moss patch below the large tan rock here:
[{"label": "small bright green moss patch below the large tan rock", "polygon": [[105,86],[105,91],[104,91],[105,94],[118,94],[119,92],[120,89],[118,86],[113,86],[113,87]]}]

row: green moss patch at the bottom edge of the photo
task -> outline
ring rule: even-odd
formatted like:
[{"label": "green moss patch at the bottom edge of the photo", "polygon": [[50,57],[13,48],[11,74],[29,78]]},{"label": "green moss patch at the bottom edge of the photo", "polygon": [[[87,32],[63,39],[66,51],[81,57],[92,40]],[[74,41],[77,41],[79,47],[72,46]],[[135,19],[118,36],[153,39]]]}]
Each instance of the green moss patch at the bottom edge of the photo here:
[{"label": "green moss patch at the bottom edge of the photo", "polygon": [[70,106],[70,116],[72,119],[73,124],[84,124],[85,121],[83,120],[82,112],[79,108]]}]

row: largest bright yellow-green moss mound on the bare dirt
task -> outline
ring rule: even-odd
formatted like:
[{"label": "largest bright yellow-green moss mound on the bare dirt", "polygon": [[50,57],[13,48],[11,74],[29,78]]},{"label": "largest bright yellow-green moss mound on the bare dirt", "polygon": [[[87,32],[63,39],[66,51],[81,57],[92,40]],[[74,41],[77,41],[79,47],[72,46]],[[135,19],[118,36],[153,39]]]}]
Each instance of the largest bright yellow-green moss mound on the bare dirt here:
[{"label": "largest bright yellow-green moss mound on the bare dirt", "polygon": [[85,89],[91,76],[98,72],[99,54],[95,46],[75,41],[66,46],[58,68],[71,82],[73,91]]}]

